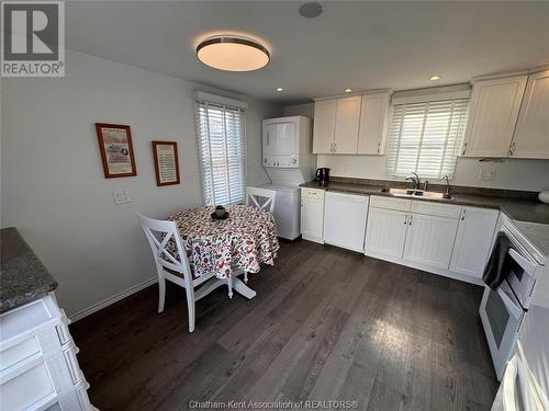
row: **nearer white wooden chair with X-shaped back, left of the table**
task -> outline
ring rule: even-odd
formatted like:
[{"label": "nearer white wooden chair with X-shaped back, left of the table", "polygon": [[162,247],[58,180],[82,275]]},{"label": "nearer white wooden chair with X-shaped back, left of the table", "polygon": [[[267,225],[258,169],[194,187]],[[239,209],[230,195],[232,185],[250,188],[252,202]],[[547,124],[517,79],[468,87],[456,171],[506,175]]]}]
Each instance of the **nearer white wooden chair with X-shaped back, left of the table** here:
[{"label": "nearer white wooden chair with X-shaped back, left of the table", "polygon": [[[232,278],[225,281],[212,282],[210,286],[202,286],[197,293],[194,288],[205,281],[215,276],[215,273],[202,275],[198,278],[192,277],[191,267],[187,253],[181,246],[181,238],[175,221],[155,220],[142,216],[137,213],[145,236],[147,237],[156,270],[158,272],[158,312],[164,311],[166,299],[166,279],[183,287],[187,292],[187,307],[189,311],[189,332],[194,330],[194,304],[223,284],[228,285],[228,297],[233,297]],[[172,240],[176,244],[176,251],[168,250],[168,244]]]}]

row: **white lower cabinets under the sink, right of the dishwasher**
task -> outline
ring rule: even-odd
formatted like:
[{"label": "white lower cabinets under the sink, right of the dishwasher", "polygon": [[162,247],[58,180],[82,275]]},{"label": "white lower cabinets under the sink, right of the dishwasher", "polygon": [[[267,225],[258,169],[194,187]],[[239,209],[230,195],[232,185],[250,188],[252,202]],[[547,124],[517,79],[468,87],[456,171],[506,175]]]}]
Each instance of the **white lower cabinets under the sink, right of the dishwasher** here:
[{"label": "white lower cabinets under the sink, right of the dishwasher", "polygon": [[365,253],[480,284],[500,212],[405,202],[370,196]]}]

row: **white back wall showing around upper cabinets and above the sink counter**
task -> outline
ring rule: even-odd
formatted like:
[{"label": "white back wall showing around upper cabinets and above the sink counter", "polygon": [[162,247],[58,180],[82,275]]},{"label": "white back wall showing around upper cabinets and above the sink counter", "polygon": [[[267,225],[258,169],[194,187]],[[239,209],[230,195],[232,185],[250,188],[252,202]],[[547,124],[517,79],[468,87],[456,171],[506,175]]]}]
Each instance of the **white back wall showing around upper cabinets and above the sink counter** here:
[{"label": "white back wall showing around upper cabinets and above the sink counter", "polygon": [[[313,118],[314,104],[284,107],[284,115],[305,115]],[[332,175],[395,180],[385,174],[385,156],[318,155],[317,167],[328,167]],[[481,181],[481,169],[495,170],[493,181]],[[525,191],[549,189],[549,160],[504,159],[502,162],[481,162],[479,159],[458,158],[455,185],[482,186]]]}]

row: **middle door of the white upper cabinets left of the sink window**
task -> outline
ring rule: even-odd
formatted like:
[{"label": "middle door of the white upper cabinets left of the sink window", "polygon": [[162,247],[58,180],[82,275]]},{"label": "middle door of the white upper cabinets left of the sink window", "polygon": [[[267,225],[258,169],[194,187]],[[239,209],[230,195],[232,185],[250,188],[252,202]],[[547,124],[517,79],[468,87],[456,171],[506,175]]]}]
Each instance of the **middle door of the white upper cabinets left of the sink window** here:
[{"label": "middle door of the white upper cabinets left of the sink window", "polygon": [[337,99],[334,152],[338,155],[357,153],[360,104],[360,95]]}]

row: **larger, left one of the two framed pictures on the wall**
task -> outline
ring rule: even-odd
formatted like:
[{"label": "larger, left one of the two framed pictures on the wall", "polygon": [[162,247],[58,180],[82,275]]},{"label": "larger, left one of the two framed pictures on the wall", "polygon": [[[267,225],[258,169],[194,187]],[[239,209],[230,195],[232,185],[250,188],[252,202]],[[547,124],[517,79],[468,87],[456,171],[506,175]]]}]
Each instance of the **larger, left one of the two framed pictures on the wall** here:
[{"label": "larger, left one of the two framed pictures on the wall", "polygon": [[137,175],[130,126],[96,123],[105,179]]}]

